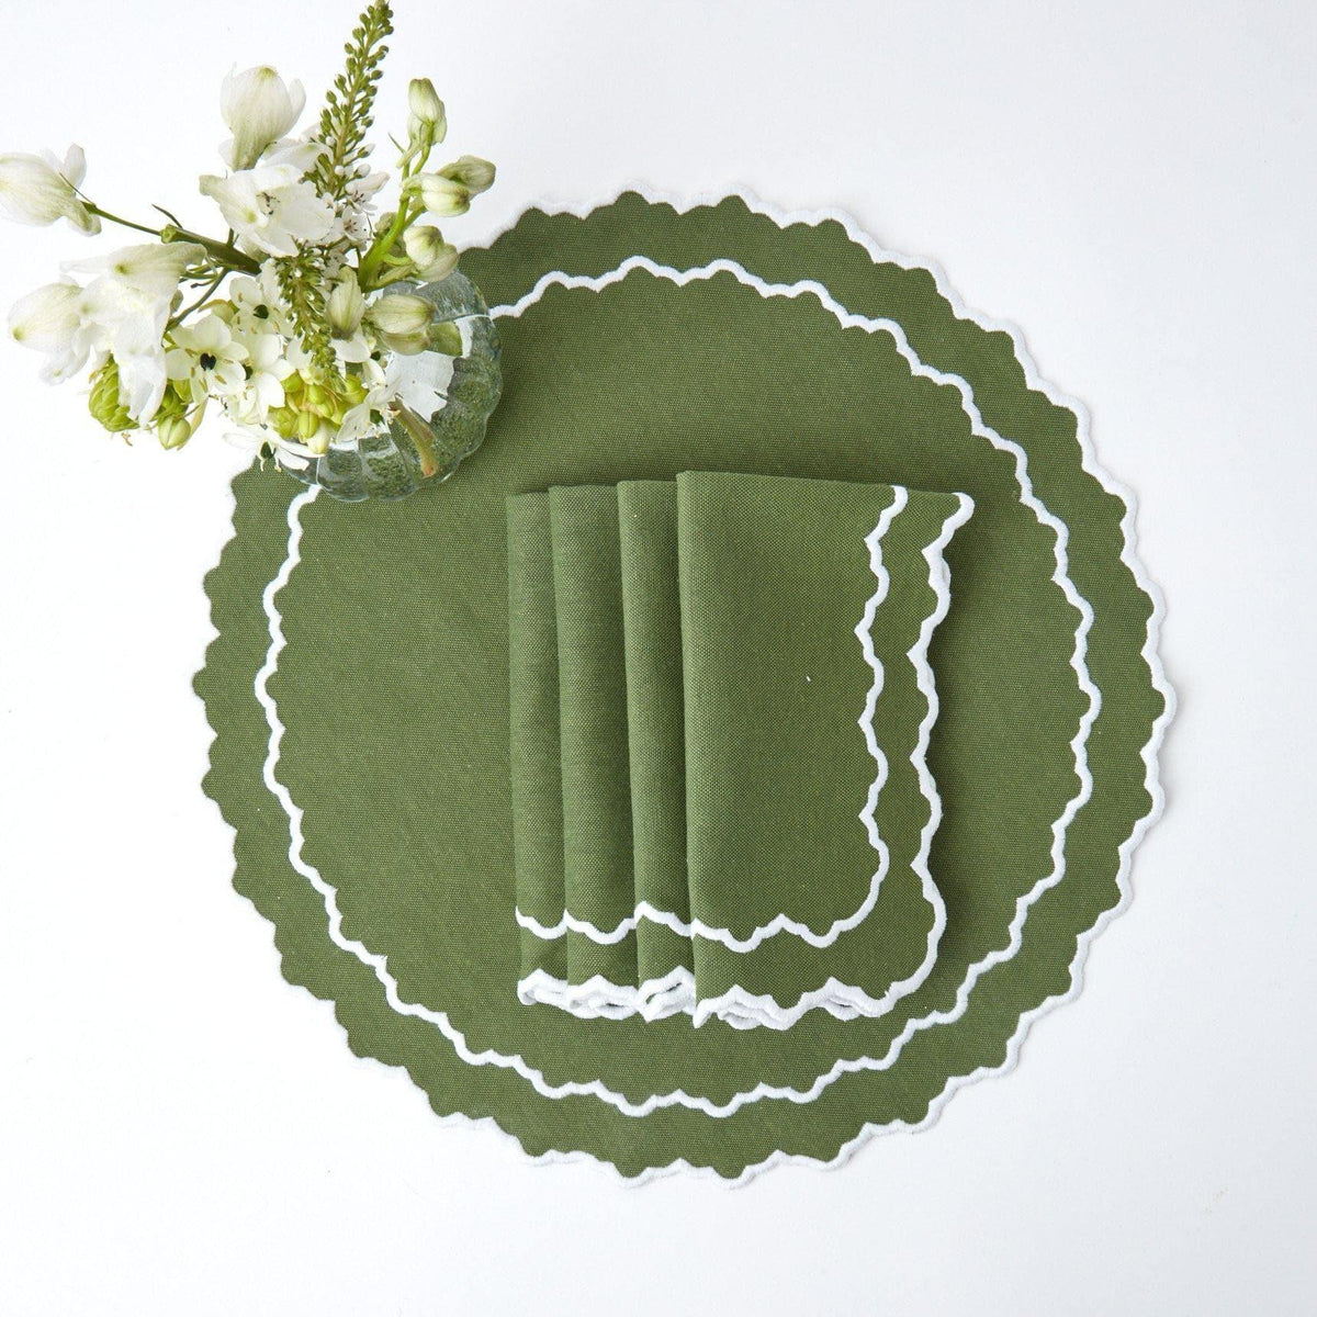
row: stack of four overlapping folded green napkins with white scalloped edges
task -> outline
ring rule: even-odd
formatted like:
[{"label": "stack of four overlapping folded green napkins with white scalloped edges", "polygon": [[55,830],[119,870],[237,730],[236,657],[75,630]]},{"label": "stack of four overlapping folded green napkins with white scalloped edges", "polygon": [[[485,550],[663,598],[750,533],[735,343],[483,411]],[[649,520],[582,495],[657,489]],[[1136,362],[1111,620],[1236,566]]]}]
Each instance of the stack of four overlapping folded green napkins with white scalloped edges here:
[{"label": "stack of four overlapping folded green napkins with white scalloped edges", "polygon": [[972,508],[705,471],[508,499],[523,1002],[785,1029],[923,981],[928,651]]}]

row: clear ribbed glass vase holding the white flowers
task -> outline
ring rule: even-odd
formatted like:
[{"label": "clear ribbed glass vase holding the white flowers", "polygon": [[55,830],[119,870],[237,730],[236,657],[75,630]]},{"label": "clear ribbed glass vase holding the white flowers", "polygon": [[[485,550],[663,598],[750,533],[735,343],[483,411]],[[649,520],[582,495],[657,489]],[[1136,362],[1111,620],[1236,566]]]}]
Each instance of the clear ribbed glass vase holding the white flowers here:
[{"label": "clear ribbed glass vase holding the white flowers", "polygon": [[443,395],[432,415],[411,412],[357,439],[332,440],[327,452],[308,452],[302,466],[281,464],[294,479],[345,502],[406,498],[446,481],[479,448],[503,389],[498,328],[470,279],[454,271],[439,283],[399,282],[389,291],[433,303],[435,319],[452,320],[461,331],[462,353],[406,358],[407,369]]}]

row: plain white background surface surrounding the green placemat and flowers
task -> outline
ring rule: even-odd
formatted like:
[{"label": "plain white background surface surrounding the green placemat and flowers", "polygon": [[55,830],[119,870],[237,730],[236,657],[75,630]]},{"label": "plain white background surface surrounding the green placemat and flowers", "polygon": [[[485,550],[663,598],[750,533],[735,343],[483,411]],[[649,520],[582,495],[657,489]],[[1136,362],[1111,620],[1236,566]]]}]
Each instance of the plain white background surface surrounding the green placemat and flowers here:
[{"label": "plain white background surface surrounding the green placemat and flowers", "polygon": [[[1023,327],[1141,498],[1169,810],[1083,998],[932,1130],[741,1191],[531,1167],[356,1060],[229,888],[190,678],[240,454],[128,449],[0,342],[0,1310],[1312,1312],[1317,7],[398,8],[386,122],[429,74],[500,166],[458,241],[743,186]],[[223,74],[317,97],[352,17],[5,0],[0,150],[203,223]],[[0,304],[92,246],[0,229]]]}]

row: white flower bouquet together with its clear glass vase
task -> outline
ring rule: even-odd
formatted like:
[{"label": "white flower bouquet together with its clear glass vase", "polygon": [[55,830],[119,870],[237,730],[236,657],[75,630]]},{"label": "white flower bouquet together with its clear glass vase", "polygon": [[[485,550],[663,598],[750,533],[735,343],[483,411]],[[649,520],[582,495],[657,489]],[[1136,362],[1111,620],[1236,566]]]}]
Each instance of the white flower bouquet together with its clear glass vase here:
[{"label": "white flower bouquet together with its clear glass vase", "polygon": [[408,88],[406,142],[390,184],[366,136],[392,16],[374,0],[316,125],[290,137],[300,83],[269,67],[233,71],[220,107],[232,137],[224,174],[200,191],[228,232],[208,237],[111,213],[83,191],[79,146],[63,161],[0,155],[0,209],[26,224],[111,223],[151,241],[67,262],[22,298],[14,341],[59,382],[90,373],[90,410],[113,433],[182,448],[219,414],[262,462],[346,499],[398,498],[449,475],[498,403],[499,345],[458,254],[431,219],[461,215],[494,182],[462,155],[431,169],[446,115],[429,79]]}]

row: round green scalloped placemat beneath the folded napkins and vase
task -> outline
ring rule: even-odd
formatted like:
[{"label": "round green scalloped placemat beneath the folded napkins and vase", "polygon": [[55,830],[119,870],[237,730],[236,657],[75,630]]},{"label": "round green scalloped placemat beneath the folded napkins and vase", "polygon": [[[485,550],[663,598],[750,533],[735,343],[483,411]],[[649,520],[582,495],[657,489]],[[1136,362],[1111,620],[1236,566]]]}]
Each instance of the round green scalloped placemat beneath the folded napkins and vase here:
[{"label": "round green scalloped placemat beneath the folded napkins and vase", "polygon": [[[900,338],[843,329],[809,292],[766,296],[726,266],[682,287],[637,270],[529,296],[552,270],[593,279],[636,253],[815,281]],[[1125,557],[1126,504],[1009,335],[838,223],[782,225],[736,199],[677,213],[628,195],[585,220],[529,212],[464,269],[491,306],[527,303],[498,312],[504,400],[450,482],[360,507],[290,507],[292,483],[255,470],[234,483],[198,689],[238,890],[274,922],[288,981],[335,1002],[358,1055],[406,1067],[436,1112],[493,1118],[535,1156],[743,1177],[927,1122],[1069,992],[1156,803],[1144,755],[1167,697],[1150,668],[1154,606]],[[963,389],[917,373],[906,344]],[[965,391],[1004,443],[971,423]],[[1058,532],[1025,504],[1025,461],[1064,523],[1090,619],[1052,579]],[[975,499],[948,549],[956,601],[932,653],[944,817],[930,868],[948,923],[932,975],[880,1019],[814,1013],[809,1027],[739,1033],[516,1000],[506,497],[693,469]],[[1077,628],[1096,710],[1071,665]],[[1090,790],[1071,745],[1085,718]],[[284,793],[304,811],[300,840]]]}]

